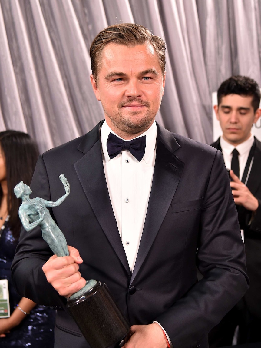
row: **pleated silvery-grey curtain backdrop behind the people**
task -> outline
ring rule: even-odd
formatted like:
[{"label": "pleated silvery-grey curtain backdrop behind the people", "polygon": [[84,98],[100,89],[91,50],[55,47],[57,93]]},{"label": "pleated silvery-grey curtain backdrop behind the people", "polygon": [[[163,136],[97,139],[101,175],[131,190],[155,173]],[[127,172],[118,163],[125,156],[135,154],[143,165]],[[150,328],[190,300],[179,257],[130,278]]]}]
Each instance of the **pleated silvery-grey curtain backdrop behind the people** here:
[{"label": "pleated silvery-grey curtain backdrop behind the people", "polygon": [[139,23],[167,44],[157,121],[212,142],[211,93],[232,74],[261,85],[261,0],[0,0],[0,130],[43,152],[104,118],[89,47],[104,27]]}]

